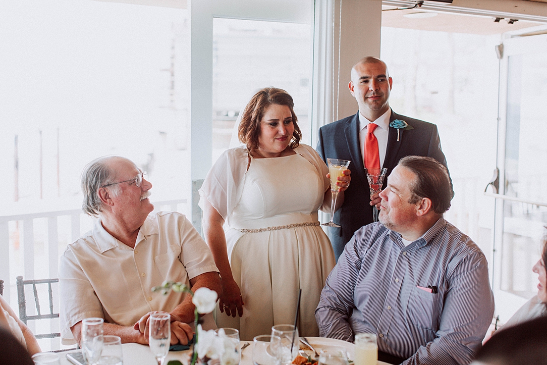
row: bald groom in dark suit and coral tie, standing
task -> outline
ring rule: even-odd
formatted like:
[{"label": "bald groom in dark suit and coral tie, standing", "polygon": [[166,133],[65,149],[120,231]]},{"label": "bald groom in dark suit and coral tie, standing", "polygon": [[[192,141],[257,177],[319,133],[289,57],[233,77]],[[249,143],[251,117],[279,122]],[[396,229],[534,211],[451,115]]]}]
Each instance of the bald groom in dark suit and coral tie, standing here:
[{"label": "bald groom in dark suit and coral tie, standing", "polygon": [[386,167],[387,175],[401,158],[409,155],[433,157],[446,166],[437,126],[399,115],[389,107],[392,82],[382,60],[360,60],[351,69],[349,84],[359,112],[319,129],[317,152],[325,163],[327,158],[351,160],[351,187],[334,215],[334,222],[342,227],[329,228],[336,260],[353,233],[373,222],[373,205],[380,206],[378,194],[370,196],[365,163]]}]

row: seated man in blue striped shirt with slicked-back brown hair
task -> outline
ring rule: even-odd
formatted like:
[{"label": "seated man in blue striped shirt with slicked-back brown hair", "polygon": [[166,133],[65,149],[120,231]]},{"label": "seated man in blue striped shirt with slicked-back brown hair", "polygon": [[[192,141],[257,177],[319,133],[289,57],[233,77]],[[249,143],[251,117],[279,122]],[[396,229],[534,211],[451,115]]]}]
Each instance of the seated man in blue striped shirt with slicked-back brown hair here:
[{"label": "seated man in blue striped shirt with slicked-back brown hair", "polygon": [[322,337],[375,333],[393,364],[468,364],[492,321],[494,298],[480,248],[443,213],[452,188],[429,157],[401,159],[380,222],[356,231],[315,312]]}]

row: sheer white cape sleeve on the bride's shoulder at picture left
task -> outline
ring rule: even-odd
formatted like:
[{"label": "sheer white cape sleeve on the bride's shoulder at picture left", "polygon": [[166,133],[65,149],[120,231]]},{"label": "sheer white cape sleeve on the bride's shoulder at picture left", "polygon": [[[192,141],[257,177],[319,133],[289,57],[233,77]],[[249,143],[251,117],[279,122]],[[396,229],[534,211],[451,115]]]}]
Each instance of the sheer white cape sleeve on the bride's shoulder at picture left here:
[{"label": "sheer white cape sleeve on the bride's shoulder at picture left", "polygon": [[199,189],[202,210],[205,207],[203,201],[207,199],[224,221],[228,219],[241,198],[248,159],[245,146],[228,149],[220,155]]}]

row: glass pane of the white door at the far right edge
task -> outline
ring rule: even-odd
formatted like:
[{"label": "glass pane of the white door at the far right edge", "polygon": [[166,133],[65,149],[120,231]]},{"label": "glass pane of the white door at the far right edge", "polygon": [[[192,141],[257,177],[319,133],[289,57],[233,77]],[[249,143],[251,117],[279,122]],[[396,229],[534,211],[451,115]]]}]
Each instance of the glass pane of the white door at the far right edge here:
[{"label": "glass pane of the white door at the far right edge", "polygon": [[[521,297],[536,292],[532,266],[547,223],[547,53],[509,56],[505,128],[501,289]],[[537,203],[537,204],[534,204]]]}]

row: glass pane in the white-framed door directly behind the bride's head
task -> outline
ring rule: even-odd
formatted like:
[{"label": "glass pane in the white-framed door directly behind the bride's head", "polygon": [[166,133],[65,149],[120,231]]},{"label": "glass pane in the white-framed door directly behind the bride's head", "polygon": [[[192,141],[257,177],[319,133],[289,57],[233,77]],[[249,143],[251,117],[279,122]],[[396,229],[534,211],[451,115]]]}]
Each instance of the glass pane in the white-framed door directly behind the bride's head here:
[{"label": "glass pane in the white-framed door directly behind the bride's head", "polygon": [[230,146],[234,124],[267,86],[286,90],[310,144],[310,25],[215,18],[213,23],[213,163]]}]

